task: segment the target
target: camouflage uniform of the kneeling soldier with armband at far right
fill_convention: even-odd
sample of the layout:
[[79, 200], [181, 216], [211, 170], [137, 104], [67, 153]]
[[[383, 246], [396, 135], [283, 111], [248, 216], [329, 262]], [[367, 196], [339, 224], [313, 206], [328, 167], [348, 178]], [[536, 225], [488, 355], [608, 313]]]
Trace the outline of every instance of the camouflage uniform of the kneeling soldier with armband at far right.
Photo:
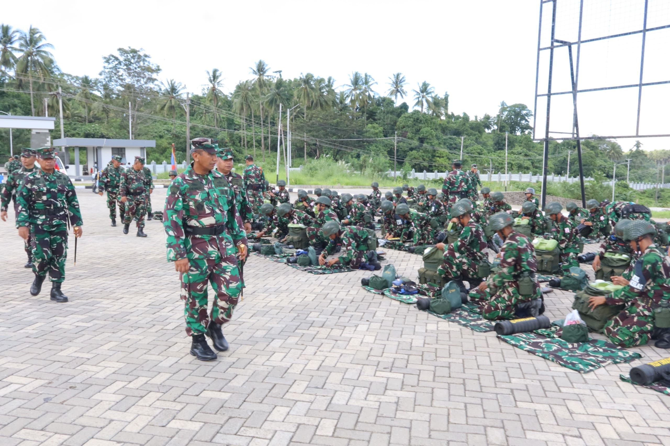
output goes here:
[[626, 305], [608, 321], [605, 335], [621, 347], [643, 346], [654, 329], [653, 309], [670, 296], [670, 262], [655, 244], [647, 247], [634, 265], [630, 284], [605, 299], [607, 305]]

